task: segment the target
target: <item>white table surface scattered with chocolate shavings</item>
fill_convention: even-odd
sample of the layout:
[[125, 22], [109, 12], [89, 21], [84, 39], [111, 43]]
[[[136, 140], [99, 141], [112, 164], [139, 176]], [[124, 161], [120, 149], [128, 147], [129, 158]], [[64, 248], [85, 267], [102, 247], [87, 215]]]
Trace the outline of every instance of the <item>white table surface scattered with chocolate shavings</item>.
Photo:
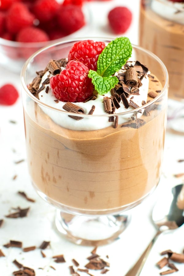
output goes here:
[[[93, 18], [90, 36], [115, 37], [106, 26], [106, 16], [108, 11], [117, 5], [125, 5], [132, 10], [132, 25], [124, 35], [128, 36], [133, 44], [137, 44], [138, 0], [90, 2], [89, 6]], [[89, 32], [82, 36], [88, 35]], [[11, 73], [9, 70], [0, 67], [0, 86], [7, 82], [13, 83], [21, 93], [19, 74]], [[183, 142], [184, 136], [172, 133], [167, 128], [163, 177], [158, 188], [142, 204], [130, 211], [131, 222], [120, 239], [98, 248], [97, 253], [102, 258], [105, 259], [105, 256], [109, 255], [110, 270], [107, 275], [125, 275], [156, 233], [151, 223], [151, 209], [160, 192], [164, 194], [165, 189], [169, 189], [183, 181], [182, 177], [174, 177], [174, 174], [184, 172], [184, 162], [178, 162], [179, 159], [184, 159]], [[21, 159], [24, 161], [16, 164]], [[13, 180], [15, 175], [17, 178]], [[17, 194], [18, 191], [24, 191], [36, 202], [26, 201]], [[17, 219], [6, 218], [5, 215], [12, 211], [11, 208], [17, 206], [21, 208], [30, 207], [28, 216]], [[68, 266], [72, 265], [72, 258], [75, 258], [80, 263], [80, 267], [83, 268], [87, 263], [86, 257], [90, 255], [92, 247], [75, 245], [59, 236], [53, 226], [54, 215], [54, 207], [44, 202], [31, 185], [26, 164], [24, 121], [21, 97], [19, 97], [13, 106], [0, 106], [0, 219], [4, 220], [0, 228], [0, 249], [6, 255], [6, 257], [0, 258], [0, 275], [9, 276], [12, 275], [13, 271], [18, 270], [12, 263], [14, 259], [23, 263], [24, 266], [35, 269], [38, 276], [70, 275]], [[180, 228], [174, 234], [162, 234], [155, 243], [141, 275], [159, 275], [160, 270], [155, 267], [155, 263], [161, 259], [159, 252], [170, 248], [181, 253], [184, 249], [183, 234], [184, 228]], [[22, 241], [23, 247], [34, 245], [39, 247], [43, 240], [49, 240], [51, 241], [51, 247], [44, 251], [47, 257], [42, 258], [39, 249], [23, 252], [20, 248], [3, 247], [3, 244], [10, 240]], [[66, 263], [57, 264], [53, 261], [51, 257], [59, 254], [64, 255]], [[50, 265], [54, 266], [56, 270], [50, 268]], [[39, 267], [44, 268], [44, 270], [38, 269]], [[184, 264], [180, 264], [178, 268], [179, 271], [176, 275], [184, 275]], [[99, 271], [91, 271], [91, 273], [94, 276], [102, 275]], [[81, 275], [86, 274], [81, 273]]]

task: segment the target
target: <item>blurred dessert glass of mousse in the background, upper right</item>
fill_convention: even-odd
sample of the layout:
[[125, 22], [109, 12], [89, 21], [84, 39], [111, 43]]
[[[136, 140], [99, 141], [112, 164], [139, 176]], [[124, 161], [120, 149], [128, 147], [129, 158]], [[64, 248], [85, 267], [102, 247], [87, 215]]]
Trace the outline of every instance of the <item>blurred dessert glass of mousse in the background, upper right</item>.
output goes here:
[[166, 65], [168, 126], [184, 133], [184, 1], [141, 0], [139, 45]]

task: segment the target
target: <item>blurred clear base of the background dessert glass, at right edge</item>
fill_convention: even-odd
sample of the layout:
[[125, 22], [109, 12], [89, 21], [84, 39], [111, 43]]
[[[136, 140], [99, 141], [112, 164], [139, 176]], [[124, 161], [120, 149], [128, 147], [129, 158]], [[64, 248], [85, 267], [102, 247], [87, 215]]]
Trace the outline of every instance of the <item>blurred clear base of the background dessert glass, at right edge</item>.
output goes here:
[[184, 134], [184, 101], [168, 100], [167, 125], [172, 130]]

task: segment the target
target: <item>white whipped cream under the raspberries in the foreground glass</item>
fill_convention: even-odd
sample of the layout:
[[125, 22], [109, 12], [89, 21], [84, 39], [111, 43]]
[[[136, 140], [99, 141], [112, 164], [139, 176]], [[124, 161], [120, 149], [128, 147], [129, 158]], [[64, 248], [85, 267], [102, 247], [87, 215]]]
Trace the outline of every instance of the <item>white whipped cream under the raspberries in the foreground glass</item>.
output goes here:
[[[61, 67], [61, 69], [63, 70], [64, 67]], [[51, 76], [52, 76], [52, 74], [47, 71], [44, 74], [44, 76], [42, 77], [40, 86], [44, 82], [45, 79], [47, 79], [48, 77], [50, 78]], [[143, 101], [147, 102], [148, 86], [149, 86], [148, 75], [145, 75], [145, 77], [142, 79], [141, 82], [142, 82], [142, 86], [139, 87], [139, 95], [132, 94], [133, 102], [136, 103], [140, 107], [142, 106]], [[47, 86], [49, 87], [49, 89], [46, 93], [45, 90], [46, 90]], [[75, 102], [74, 103], [75, 105], [84, 109], [84, 114], [88, 114], [90, 109], [92, 108], [92, 106], [95, 105], [93, 115], [83, 117], [82, 120], [77, 121], [68, 116], [68, 113], [63, 109], [63, 105], [65, 105], [66, 102], [57, 100], [57, 98], [52, 94], [52, 90], [51, 90], [49, 84], [45, 85], [44, 90], [40, 91], [38, 94], [38, 97], [42, 103], [49, 105], [53, 108], [64, 111], [61, 113], [59, 111], [57, 112], [56, 110], [45, 108], [44, 106], [40, 105], [40, 108], [44, 111], [44, 113], [46, 113], [56, 124], [58, 124], [64, 128], [73, 129], [73, 130], [96, 130], [96, 129], [106, 128], [108, 126], [113, 125], [112, 122], [109, 122], [110, 116], [119, 115], [119, 113], [131, 111], [131, 110], [132, 110], [132, 113], [118, 116], [118, 124], [123, 124], [127, 121], [132, 120], [131, 117], [134, 116], [134, 111], [133, 111], [134, 109], [131, 106], [129, 106], [128, 109], [126, 109], [122, 100], [119, 103], [120, 107], [118, 109], [115, 109], [114, 114], [107, 114], [105, 112], [104, 97], [110, 97], [110, 96], [111, 96], [111, 92], [109, 91], [105, 95], [97, 94], [97, 98], [95, 100], [89, 100], [87, 102]], [[127, 98], [128, 102], [130, 102], [131, 97]], [[142, 115], [142, 113], [138, 113], [137, 117], [140, 117]], [[94, 116], [94, 115], [96, 115], [96, 116]], [[98, 115], [105, 115], [105, 116], [98, 116]]]

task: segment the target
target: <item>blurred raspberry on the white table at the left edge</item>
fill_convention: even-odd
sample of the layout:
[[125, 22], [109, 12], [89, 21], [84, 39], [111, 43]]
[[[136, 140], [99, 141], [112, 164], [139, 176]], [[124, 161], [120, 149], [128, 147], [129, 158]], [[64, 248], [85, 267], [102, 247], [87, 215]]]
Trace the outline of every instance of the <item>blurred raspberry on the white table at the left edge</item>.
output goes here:
[[19, 97], [17, 89], [10, 83], [0, 87], [0, 104], [13, 105]]

